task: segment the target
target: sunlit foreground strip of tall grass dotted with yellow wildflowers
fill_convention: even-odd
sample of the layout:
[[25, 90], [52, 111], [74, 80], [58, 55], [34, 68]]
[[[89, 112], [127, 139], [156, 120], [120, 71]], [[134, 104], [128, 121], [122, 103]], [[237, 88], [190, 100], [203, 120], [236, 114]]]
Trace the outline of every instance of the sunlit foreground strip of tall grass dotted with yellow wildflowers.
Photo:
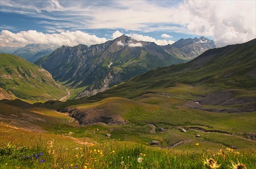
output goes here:
[[[200, 144], [195, 146], [200, 147]], [[39, 140], [23, 147], [8, 143], [0, 148], [0, 153], [1, 168], [208, 168], [209, 159], [219, 168], [237, 164], [247, 168], [256, 166], [254, 150], [220, 148], [213, 152], [202, 149], [189, 153], [112, 142], [75, 148], [56, 146], [54, 140]]]

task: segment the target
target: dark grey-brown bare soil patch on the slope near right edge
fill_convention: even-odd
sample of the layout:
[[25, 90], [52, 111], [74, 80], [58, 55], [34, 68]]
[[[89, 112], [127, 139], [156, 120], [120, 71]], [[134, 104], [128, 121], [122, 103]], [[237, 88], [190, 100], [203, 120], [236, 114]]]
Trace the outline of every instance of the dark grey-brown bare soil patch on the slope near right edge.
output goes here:
[[[245, 112], [256, 111], [256, 97], [234, 97], [236, 90], [214, 92], [205, 97], [188, 101], [185, 106], [212, 112]], [[201, 105], [239, 105], [237, 108], [205, 108]]]

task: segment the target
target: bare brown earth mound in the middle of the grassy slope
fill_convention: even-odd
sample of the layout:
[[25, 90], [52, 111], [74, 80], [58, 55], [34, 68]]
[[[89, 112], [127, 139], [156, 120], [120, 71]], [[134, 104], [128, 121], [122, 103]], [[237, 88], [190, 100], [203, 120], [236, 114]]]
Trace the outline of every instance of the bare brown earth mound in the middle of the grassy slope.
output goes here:
[[111, 106], [105, 106], [102, 108], [89, 107], [84, 109], [67, 108], [62, 110], [62, 112], [68, 112], [72, 118], [78, 121], [79, 125], [93, 123], [105, 123], [108, 125], [126, 124], [120, 115], [113, 113]]

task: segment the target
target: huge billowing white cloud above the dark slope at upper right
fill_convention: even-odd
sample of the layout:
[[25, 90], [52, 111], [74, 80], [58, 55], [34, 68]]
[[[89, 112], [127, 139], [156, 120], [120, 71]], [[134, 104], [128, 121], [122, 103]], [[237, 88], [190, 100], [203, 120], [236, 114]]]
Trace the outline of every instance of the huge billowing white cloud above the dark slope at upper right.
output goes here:
[[243, 43], [255, 38], [255, 6], [255, 1], [184, 1], [173, 21], [191, 34], [211, 36], [219, 47]]

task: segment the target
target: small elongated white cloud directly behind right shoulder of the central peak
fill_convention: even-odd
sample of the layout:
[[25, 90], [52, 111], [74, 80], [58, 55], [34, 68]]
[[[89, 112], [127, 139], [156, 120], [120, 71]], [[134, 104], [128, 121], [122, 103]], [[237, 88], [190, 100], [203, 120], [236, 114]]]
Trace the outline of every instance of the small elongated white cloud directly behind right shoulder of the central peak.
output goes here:
[[152, 38], [150, 36], [143, 36], [143, 35], [139, 35], [139, 34], [129, 34], [127, 36], [130, 36], [133, 39], [136, 39], [138, 41], [146, 41], [146, 42], [155, 42], [158, 45], [167, 45], [167, 44], [173, 44], [174, 41], [169, 40], [156, 40], [155, 38]]

